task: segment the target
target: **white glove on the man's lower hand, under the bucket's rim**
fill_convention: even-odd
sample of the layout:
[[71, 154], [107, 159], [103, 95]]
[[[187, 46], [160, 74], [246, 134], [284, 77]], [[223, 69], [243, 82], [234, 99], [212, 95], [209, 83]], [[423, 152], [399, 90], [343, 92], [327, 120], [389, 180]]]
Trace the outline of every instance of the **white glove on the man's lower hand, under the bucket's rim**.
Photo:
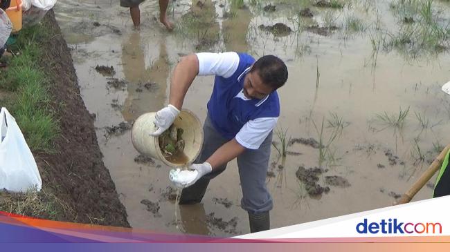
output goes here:
[[170, 170], [169, 179], [178, 188], [186, 188], [211, 171], [213, 171], [213, 167], [208, 162], [192, 164], [188, 170], [181, 171], [179, 168]]

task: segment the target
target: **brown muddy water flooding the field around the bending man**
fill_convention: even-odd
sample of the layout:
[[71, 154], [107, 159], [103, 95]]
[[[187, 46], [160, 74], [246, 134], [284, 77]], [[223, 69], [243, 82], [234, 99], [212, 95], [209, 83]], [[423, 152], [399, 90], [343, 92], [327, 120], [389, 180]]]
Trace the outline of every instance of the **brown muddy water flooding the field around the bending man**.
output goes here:
[[[247, 215], [240, 209], [235, 161], [210, 183], [201, 204], [177, 208], [177, 228], [169, 168], [157, 160], [136, 162], [138, 153], [126, 127], [121, 134], [106, 131], [167, 104], [174, 65], [180, 55], [197, 50], [239, 50], [255, 57], [275, 54], [287, 62], [289, 80], [279, 90], [278, 132], [287, 130], [287, 139], [298, 141], [287, 147], [287, 157], [280, 158], [276, 148], [271, 153], [267, 186], [275, 203], [272, 228], [390, 206], [438, 155], [435, 146], [450, 144], [450, 97], [440, 91], [449, 81], [450, 55], [411, 57], [401, 50], [372, 47], [371, 38], [395, 35], [402, 23], [390, 2], [345, 1], [342, 10], [331, 10], [296, 1], [275, 3], [275, 12], [265, 12], [269, 2], [246, 2], [247, 8], [239, 8], [227, 1], [177, 0], [169, 11], [177, 29], [167, 32], [156, 19], [157, 1], [146, 1], [141, 5], [143, 26], [136, 32], [128, 10], [117, 1], [58, 1], [57, 20], [73, 49], [82, 96], [96, 114], [98, 143], [129, 223], [169, 233], [249, 232]], [[193, 16], [187, 14], [191, 7]], [[299, 8], [305, 7], [314, 17], [298, 17]], [[449, 22], [448, 3], [435, 1], [433, 8], [441, 23]], [[359, 17], [366, 28], [348, 32], [348, 17]], [[275, 23], [285, 23], [291, 32], [274, 34], [258, 28]], [[314, 25], [339, 29], [323, 36], [307, 28]], [[101, 75], [96, 66], [113, 66], [115, 73]], [[212, 82], [212, 77], [195, 79], [183, 105], [201, 120], [206, 117]], [[406, 110], [403, 127], [386, 126], [379, 119], [398, 117]], [[331, 126], [336, 124], [341, 129], [333, 133], [339, 129]], [[302, 144], [300, 138], [322, 144]], [[273, 139], [280, 146], [276, 135]], [[324, 171], [316, 184], [329, 191], [313, 197], [296, 171], [299, 166], [319, 165]], [[414, 200], [431, 197], [433, 180]]]

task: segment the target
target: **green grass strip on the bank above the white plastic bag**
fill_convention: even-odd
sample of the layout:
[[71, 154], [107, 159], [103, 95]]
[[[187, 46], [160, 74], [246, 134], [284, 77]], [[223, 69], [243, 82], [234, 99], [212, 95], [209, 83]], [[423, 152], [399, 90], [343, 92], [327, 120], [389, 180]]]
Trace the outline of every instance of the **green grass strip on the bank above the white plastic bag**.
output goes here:
[[8, 101], [8, 109], [30, 149], [51, 153], [59, 125], [49, 106], [51, 95], [46, 72], [39, 67], [42, 56], [39, 43], [45, 43], [46, 39], [42, 26], [21, 30], [16, 44], [11, 46], [15, 56], [10, 59], [6, 73], [0, 77], [0, 88], [14, 93], [15, 98]]

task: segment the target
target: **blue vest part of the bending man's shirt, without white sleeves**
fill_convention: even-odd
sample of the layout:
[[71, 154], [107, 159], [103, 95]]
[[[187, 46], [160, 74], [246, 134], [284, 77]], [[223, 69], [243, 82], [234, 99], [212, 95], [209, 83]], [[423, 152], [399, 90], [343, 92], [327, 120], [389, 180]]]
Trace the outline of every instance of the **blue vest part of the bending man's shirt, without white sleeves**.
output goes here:
[[[250, 120], [260, 117], [278, 117], [280, 115], [280, 102], [278, 94], [273, 91], [267, 99], [260, 104], [260, 99], [244, 101], [235, 97], [244, 87], [246, 73], [255, 59], [250, 55], [238, 53], [240, 61], [237, 70], [229, 78], [215, 77], [213, 93], [208, 101], [208, 115], [215, 129], [226, 139], [233, 139], [239, 130]], [[237, 78], [242, 77], [238, 81]]]

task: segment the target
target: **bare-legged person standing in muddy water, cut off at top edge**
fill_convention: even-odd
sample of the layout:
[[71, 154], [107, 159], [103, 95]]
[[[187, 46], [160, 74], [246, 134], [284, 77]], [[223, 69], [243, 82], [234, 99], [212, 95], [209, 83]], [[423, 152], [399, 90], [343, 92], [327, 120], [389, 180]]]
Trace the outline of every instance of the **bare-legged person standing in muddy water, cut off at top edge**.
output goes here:
[[[139, 5], [145, 0], [120, 0], [120, 6], [129, 8], [129, 14], [132, 16], [134, 27], [139, 29], [141, 26], [141, 10]], [[169, 0], [159, 0], [159, 21], [165, 28], [173, 30], [173, 25], [167, 18], [165, 12], [169, 6]]]

